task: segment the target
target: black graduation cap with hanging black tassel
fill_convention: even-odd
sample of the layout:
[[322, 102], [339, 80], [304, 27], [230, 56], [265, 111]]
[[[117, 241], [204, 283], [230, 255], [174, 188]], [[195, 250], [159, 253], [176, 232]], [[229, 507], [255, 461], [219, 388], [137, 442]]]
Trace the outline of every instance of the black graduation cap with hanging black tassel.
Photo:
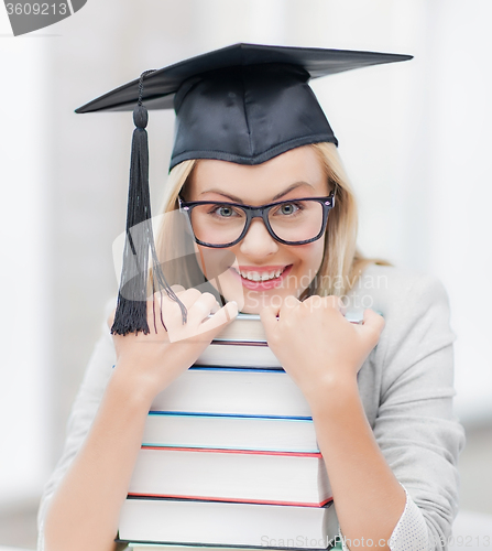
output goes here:
[[[153, 262], [153, 290], [165, 290], [178, 302], [186, 322], [186, 309], [167, 285], [158, 264], [150, 224], [147, 109], [176, 111], [170, 170], [190, 159], [260, 164], [300, 145], [338, 144], [309, 79], [411, 58], [379, 52], [234, 44], [144, 72], [140, 78], [76, 109], [78, 114], [133, 110], [136, 127], [130, 166], [128, 239], [111, 333], [149, 333], [149, 255]], [[143, 228], [136, 237], [131, 233], [135, 225]]]

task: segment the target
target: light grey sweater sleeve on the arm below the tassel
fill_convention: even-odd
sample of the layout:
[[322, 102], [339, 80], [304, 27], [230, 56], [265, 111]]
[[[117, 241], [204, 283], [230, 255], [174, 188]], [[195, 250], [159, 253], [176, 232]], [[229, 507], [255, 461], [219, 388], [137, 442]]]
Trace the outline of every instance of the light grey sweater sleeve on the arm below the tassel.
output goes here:
[[43, 489], [37, 511], [37, 551], [44, 550], [44, 520], [51, 499], [89, 432], [106, 386], [111, 377], [114, 363], [114, 347], [109, 329], [105, 323], [103, 334], [96, 344], [81, 386], [72, 407], [62, 456]]

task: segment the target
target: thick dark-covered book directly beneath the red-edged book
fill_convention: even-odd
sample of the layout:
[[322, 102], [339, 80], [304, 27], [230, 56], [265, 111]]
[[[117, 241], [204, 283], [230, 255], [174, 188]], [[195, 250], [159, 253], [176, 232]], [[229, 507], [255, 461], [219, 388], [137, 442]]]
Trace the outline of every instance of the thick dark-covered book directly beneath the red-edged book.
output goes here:
[[[120, 541], [185, 545], [326, 549], [338, 534], [331, 504], [285, 507], [198, 500], [125, 499]], [[176, 551], [177, 551], [176, 545]]]

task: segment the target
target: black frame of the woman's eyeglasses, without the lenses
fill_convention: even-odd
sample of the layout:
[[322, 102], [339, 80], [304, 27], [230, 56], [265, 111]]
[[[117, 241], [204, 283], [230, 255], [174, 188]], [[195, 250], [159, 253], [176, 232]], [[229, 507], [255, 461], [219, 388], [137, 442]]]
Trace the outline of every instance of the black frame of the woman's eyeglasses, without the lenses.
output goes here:
[[[275, 231], [273, 231], [272, 226], [270, 225], [269, 220], [269, 213], [270, 210], [278, 205], [282, 204], [289, 204], [289, 203], [296, 203], [297, 201], [315, 201], [317, 203], [320, 203], [322, 206], [322, 224], [321, 224], [321, 229], [319, 230], [319, 234], [316, 237], [313, 237], [310, 239], [306, 239], [304, 241], [285, 241], [284, 239], [281, 239]], [[238, 239], [228, 242], [228, 244], [221, 244], [221, 245], [212, 245], [209, 242], [201, 241], [198, 239], [195, 235], [195, 231], [193, 231], [195, 241], [198, 245], [201, 245], [204, 247], [210, 247], [212, 249], [225, 249], [227, 247], [232, 247], [233, 245], [237, 245], [239, 241], [241, 241], [244, 236], [248, 234], [248, 230], [250, 229], [251, 222], [253, 218], [262, 218], [263, 224], [265, 225], [269, 234], [278, 242], [283, 245], [307, 245], [308, 242], [317, 241], [322, 234], [325, 233], [326, 225], [328, 223], [328, 214], [334, 208], [335, 206], [335, 193], [331, 192], [328, 196], [326, 197], [300, 197], [300, 198], [292, 198], [292, 199], [286, 199], [286, 201], [277, 201], [275, 203], [267, 203], [266, 205], [260, 205], [260, 206], [252, 206], [252, 205], [242, 205], [239, 203], [229, 203], [229, 202], [222, 202], [222, 201], [192, 201], [192, 202], [186, 202], [183, 201], [181, 197], [178, 197], [178, 205], [179, 205], [179, 212], [182, 213], [187, 213], [188, 215], [188, 220], [189, 220], [189, 226], [193, 231], [193, 223], [192, 223], [192, 210], [194, 207], [199, 206], [199, 205], [220, 205], [220, 206], [230, 206], [230, 207], [236, 207], [236, 208], [241, 208], [244, 214], [245, 214], [245, 223], [244, 223], [244, 228], [241, 233], [241, 235], [238, 237]]]

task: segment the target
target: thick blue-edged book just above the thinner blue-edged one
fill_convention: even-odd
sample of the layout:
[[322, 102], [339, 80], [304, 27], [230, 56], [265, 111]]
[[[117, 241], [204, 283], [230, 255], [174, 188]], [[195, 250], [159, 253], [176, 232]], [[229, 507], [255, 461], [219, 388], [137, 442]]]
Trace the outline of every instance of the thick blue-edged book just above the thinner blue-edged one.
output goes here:
[[281, 369], [192, 367], [154, 398], [151, 411], [311, 417], [303, 392]]

